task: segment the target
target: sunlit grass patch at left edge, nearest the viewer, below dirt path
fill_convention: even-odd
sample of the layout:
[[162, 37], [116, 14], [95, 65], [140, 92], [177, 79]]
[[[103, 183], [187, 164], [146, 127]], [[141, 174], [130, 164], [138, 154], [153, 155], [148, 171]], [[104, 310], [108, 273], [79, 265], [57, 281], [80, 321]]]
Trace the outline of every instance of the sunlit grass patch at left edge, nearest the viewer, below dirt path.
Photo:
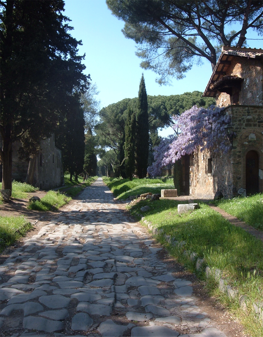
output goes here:
[[33, 226], [23, 216], [0, 216], [0, 252], [24, 236]]

